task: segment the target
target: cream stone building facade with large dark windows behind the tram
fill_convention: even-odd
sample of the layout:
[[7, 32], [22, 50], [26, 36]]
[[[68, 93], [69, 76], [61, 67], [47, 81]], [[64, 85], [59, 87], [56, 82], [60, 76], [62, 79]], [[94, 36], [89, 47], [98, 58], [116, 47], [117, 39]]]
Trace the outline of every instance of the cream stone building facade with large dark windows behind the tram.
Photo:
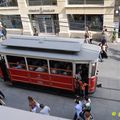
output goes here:
[[[85, 27], [114, 26], [115, 0], [1, 0], [0, 21], [9, 32], [80, 37]], [[81, 35], [80, 35], [81, 34]]]

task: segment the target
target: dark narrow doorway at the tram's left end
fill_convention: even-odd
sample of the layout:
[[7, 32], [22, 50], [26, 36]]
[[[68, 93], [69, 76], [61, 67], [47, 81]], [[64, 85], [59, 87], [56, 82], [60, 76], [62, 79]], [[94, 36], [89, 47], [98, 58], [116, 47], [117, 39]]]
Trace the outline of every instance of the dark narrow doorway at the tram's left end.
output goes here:
[[1, 71], [2, 71], [4, 81], [6, 81], [6, 82], [10, 81], [10, 75], [9, 75], [8, 70], [7, 70], [5, 60], [2, 56], [0, 56], [0, 68], [1, 68]]

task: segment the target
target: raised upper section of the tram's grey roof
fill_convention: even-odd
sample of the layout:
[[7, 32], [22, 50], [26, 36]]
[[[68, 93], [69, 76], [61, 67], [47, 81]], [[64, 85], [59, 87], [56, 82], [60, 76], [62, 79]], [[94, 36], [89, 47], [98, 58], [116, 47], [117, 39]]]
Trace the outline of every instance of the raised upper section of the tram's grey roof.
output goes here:
[[[81, 42], [83, 42], [83, 40], [81, 40]], [[2, 45], [70, 52], [79, 52], [81, 49], [81, 44], [74, 39], [71, 41], [70, 38], [52, 36], [13, 36], [7, 41], [4, 41]]]

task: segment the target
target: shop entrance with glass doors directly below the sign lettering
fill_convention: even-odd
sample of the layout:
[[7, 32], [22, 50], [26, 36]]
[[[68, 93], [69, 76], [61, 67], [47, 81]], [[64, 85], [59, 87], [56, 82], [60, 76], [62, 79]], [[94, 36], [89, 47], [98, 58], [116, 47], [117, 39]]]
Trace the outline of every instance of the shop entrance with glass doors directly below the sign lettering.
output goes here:
[[32, 14], [29, 15], [32, 28], [37, 28], [39, 33], [56, 34], [59, 32], [57, 14]]

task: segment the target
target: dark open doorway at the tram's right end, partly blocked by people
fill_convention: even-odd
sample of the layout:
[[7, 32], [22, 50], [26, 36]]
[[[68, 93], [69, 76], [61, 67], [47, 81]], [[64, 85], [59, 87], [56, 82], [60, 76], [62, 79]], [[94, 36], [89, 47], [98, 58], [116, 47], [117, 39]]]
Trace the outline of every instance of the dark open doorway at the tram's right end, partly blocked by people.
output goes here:
[[[81, 64], [77, 63], [76, 64], [76, 75], [79, 76], [82, 83], [87, 83], [88, 84], [88, 78], [89, 78], [89, 64]], [[88, 95], [88, 86], [85, 87], [85, 94]]]

